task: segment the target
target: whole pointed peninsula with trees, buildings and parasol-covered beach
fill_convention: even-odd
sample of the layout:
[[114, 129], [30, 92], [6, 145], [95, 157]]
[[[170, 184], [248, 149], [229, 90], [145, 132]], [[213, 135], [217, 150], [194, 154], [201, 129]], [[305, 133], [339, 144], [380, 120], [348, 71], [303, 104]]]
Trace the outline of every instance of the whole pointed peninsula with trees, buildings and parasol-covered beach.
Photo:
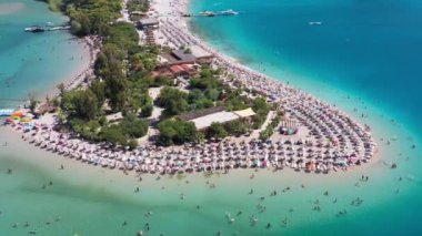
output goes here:
[[31, 101], [6, 120], [29, 143], [152, 174], [284, 167], [328, 174], [375, 155], [368, 125], [192, 34], [185, 0], [93, 2], [57, 6], [71, 32], [88, 40], [93, 61], [60, 84], [58, 96]]

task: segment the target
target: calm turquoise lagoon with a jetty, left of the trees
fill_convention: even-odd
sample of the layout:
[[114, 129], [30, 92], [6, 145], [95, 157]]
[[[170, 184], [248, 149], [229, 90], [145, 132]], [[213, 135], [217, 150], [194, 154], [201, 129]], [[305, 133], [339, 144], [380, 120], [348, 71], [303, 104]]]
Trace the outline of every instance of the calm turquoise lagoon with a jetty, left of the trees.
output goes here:
[[0, 107], [13, 107], [28, 94], [46, 93], [79, 73], [88, 58], [68, 32], [28, 33], [23, 29], [61, 24], [67, 19], [32, 0], [0, 0]]

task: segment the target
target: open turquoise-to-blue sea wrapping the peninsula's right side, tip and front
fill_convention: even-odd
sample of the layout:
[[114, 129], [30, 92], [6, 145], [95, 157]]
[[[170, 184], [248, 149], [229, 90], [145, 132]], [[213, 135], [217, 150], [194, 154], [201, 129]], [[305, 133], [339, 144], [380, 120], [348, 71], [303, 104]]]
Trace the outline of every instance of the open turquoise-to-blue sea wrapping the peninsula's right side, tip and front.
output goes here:
[[[39, 14], [56, 16], [38, 7]], [[193, 0], [190, 6], [191, 12], [225, 9], [241, 13], [193, 18], [192, 30], [245, 65], [370, 124], [380, 157], [332, 175], [260, 170], [253, 179], [247, 171], [139, 182], [134, 174], [79, 165], [22, 145], [0, 129], [0, 235], [32, 229], [38, 235], [135, 235], [141, 229], [144, 235], [422, 235], [422, 2]], [[395, 170], [389, 167], [393, 162]], [[362, 175], [369, 181], [360, 181]], [[137, 186], [140, 193], [133, 193]], [[274, 189], [278, 195], [270, 196]]]

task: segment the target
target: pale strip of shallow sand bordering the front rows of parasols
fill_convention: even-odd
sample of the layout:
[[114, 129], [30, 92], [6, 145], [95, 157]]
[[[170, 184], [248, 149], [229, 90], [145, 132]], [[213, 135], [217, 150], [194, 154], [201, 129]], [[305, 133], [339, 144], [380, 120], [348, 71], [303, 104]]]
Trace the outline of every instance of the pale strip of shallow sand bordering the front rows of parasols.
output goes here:
[[[7, 142], [7, 146], [4, 143]], [[142, 186], [148, 187], [149, 191], [160, 189], [161, 186], [157, 185], [157, 177], [160, 174], [139, 174], [135, 172], [122, 172], [120, 170], [108, 170], [101, 166], [88, 165], [86, 163], [78, 162], [72, 158], [66, 158], [58, 154], [46, 152], [37, 146], [29, 145], [23, 141], [19, 133], [11, 131], [9, 127], [0, 127], [0, 156], [12, 157], [20, 162], [30, 164], [37, 168], [48, 172], [49, 175], [59, 176], [71, 184], [84, 184], [87, 179], [90, 179], [97, 187], [111, 187], [110, 189], [118, 187], [123, 193], [132, 192], [135, 186], [140, 184], [139, 177], [142, 177]], [[61, 165], [64, 170], [60, 170]], [[318, 185], [320, 187], [339, 187], [344, 183], [353, 183], [362, 175], [369, 174], [371, 171], [384, 168], [382, 163], [372, 162], [370, 165], [364, 165], [360, 168], [353, 168], [353, 171], [331, 173], [330, 175], [314, 175], [303, 172], [295, 172], [294, 170], [283, 170], [273, 172], [270, 170], [235, 170], [228, 174], [223, 174], [222, 171], [215, 172], [213, 177], [204, 177], [203, 173], [184, 174], [181, 179], [178, 179], [178, 175], [162, 176], [160, 184], [167, 187], [171, 185], [178, 185], [188, 179], [190, 183], [204, 184], [207, 179], [213, 179], [218, 185], [223, 184], [227, 179], [229, 183], [237, 186], [248, 187], [251, 175], [255, 176], [259, 183], [265, 183], [271, 187], [271, 183], [278, 185], [278, 182], [284, 183], [303, 183], [305, 185]], [[312, 177], [310, 177], [312, 176]], [[339, 177], [342, 178], [339, 182]], [[274, 186], [275, 187], [275, 186]]]

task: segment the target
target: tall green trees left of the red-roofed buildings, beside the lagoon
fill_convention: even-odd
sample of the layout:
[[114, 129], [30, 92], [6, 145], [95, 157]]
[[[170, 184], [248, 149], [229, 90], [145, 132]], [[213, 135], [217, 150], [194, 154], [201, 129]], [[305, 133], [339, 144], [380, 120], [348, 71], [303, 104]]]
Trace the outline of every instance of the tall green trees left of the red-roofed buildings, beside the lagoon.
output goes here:
[[[120, 0], [50, 1], [70, 18], [71, 32], [78, 37], [101, 37], [102, 47], [89, 88], [64, 91], [61, 85], [60, 117], [63, 126], [93, 141], [135, 147], [135, 138], [148, 132], [149, 123], [141, 117], [152, 113], [148, 88], [160, 83], [148, 75], [157, 66], [157, 47], [140, 47], [131, 23], [115, 22]], [[119, 121], [105, 115], [121, 112]], [[61, 115], [60, 115], [61, 116]]]

